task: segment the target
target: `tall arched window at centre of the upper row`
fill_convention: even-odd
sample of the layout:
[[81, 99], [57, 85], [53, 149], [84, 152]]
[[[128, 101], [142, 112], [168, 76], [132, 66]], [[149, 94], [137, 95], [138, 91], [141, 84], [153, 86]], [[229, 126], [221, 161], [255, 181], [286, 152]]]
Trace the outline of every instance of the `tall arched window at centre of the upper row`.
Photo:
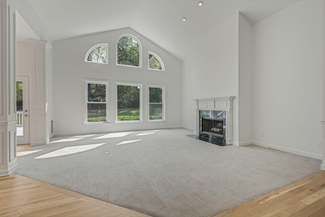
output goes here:
[[124, 35], [117, 42], [117, 65], [141, 68], [141, 45], [139, 41], [130, 35]]

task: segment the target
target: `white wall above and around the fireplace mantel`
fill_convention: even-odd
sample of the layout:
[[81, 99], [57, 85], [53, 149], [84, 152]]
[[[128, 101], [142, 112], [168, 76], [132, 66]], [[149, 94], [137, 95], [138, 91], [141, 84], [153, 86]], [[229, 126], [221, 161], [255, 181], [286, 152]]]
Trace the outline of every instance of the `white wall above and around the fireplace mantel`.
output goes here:
[[183, 61], [183, 126], [193, 129], [192, 99], [236, 96], [233, 141], [238, 143], [238, 14], [194, 41], [194, 55]]

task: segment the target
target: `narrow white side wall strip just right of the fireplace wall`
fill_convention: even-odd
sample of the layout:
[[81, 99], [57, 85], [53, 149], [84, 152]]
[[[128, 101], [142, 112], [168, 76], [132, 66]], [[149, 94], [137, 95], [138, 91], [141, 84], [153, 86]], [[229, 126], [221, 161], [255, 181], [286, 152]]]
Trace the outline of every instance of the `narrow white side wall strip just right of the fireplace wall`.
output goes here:
[[251, 144], [252, 131], [252, 25], [239, 13], [238, 59], [239, 145]]

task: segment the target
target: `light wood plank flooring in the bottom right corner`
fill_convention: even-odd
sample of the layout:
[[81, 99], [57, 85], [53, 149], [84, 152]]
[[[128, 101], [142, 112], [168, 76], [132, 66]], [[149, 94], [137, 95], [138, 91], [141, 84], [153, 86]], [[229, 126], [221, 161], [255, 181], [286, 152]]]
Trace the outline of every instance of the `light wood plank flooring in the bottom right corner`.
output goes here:
[[325, 171], [214, 217], [325, 216]]

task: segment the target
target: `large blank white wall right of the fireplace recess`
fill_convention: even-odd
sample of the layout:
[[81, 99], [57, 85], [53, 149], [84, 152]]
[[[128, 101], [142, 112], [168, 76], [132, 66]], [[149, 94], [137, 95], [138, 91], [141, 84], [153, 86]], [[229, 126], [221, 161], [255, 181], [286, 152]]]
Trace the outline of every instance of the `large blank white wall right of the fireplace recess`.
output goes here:
[[322, 1], [253, 26], [253, 140], [321, 159]]

